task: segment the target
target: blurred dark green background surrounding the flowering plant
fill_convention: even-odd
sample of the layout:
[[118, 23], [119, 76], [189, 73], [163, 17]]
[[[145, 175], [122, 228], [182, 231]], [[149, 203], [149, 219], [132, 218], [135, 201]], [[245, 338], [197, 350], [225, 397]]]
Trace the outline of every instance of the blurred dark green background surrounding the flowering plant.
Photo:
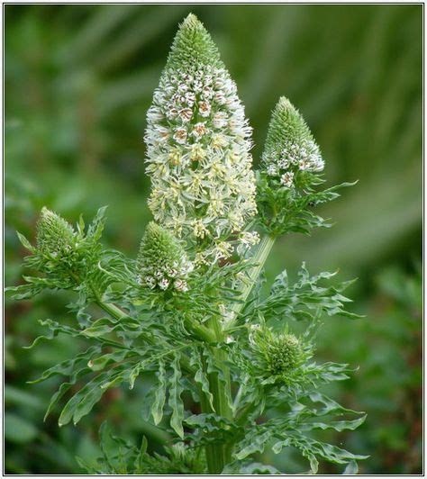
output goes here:
[[[422, 5], [5, 5], [5, 284], [23, 274], [14, 231], [32, 239], [44, 204], [70, 221], [109, 204], [104, 242], [135, 256], [150, 220], [145, 113], [190, 11], [237, 82], [256, 163], [286, 95], [323, 149], [328, 184], [359, 179], [323, 208], [332, 230], [282, 239], [267, 273], [295, 274], [305, 260], [313, 273], [359, 277], [350, 295], [366, 319], [325, 321], [318, 357], [359, 366], [334, 394], [368, 420], [332, 440], [370, 455], [362, 473], [421, 473]], [[105, 418], [141, 438], [138, 391], [105, 394], [77, 428], [43, 423], [57, 380], [25, 382], [82, 345], [22, 347], [41, 334], [38, 320], [69, 321], [68, 299], [6, 300], [8, 473], [81, 473], [75, 456], [97, 454]], [[259, 459], [299, 466], [287, 453]]]

